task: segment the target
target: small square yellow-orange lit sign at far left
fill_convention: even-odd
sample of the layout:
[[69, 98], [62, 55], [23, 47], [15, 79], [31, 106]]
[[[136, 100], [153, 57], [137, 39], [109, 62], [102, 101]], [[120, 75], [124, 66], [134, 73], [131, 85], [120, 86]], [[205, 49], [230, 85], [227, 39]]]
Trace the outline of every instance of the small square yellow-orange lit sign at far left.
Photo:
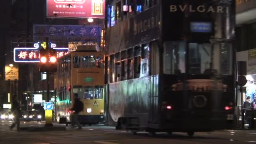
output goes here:
[[19, 80], [19, 68], [6, 65], [5, 80]]

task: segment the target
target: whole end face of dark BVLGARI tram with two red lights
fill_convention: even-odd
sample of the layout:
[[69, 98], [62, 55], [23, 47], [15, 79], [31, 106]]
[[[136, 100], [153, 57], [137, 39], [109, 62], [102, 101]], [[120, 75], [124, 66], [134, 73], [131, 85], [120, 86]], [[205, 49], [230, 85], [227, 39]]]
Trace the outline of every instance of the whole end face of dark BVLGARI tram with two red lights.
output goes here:
[[161, 127], [171, 131], [232, 128], [235, 0], [162, 3]]

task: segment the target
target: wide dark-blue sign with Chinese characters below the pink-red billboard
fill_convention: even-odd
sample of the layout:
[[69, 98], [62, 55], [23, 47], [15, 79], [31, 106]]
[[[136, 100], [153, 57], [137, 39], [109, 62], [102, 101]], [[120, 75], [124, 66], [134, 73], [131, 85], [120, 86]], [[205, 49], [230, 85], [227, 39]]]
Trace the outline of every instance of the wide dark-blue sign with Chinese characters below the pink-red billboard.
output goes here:
[[100, 43], [101, 26], [34, 25], [34, 41]]

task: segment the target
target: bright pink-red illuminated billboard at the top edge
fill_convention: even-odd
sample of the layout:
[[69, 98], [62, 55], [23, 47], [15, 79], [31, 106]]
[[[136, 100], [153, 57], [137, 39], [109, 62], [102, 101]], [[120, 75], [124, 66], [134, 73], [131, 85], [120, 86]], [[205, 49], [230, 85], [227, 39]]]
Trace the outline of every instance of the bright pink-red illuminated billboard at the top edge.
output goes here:
[[105, 0], [47, 0], [47, 17], [104, 19]]

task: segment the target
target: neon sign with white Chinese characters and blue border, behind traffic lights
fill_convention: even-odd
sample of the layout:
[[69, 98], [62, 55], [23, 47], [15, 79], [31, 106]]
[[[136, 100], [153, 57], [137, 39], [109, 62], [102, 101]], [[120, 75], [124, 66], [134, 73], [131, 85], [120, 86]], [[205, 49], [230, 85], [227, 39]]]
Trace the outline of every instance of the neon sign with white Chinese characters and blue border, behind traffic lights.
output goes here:
[[[45, 43], [34, 43], [34, 48], [14, 48], [13, 50], [13, 60], [15, 62], [22, 63], [36, 63], [39, 60], [39, 49], [40, 46], [45, 48]], [[57, 52], [57, 58], [62, 57], [69, 53], [69, 48], [56, 48], [55, 43], [50, 43], [51, 48], [55, 49]]]

